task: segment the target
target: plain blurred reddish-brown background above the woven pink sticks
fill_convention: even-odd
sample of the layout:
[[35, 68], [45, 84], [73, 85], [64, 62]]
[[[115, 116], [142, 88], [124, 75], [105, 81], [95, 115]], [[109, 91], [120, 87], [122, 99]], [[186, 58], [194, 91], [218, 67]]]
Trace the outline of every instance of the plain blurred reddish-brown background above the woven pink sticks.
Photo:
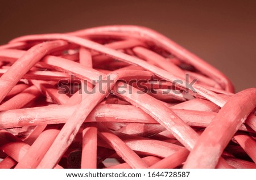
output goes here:
[[237, 91], [256, 87], [256, 1], [0, 0], [0, 44], [108, 24], [155, 29], [224, 72]]

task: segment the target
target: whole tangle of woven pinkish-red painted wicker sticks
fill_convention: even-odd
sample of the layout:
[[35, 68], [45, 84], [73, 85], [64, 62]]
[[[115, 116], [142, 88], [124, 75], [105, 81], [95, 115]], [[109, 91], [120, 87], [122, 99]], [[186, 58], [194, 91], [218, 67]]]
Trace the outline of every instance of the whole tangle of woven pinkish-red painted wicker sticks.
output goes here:
[[18, 37], [0, 65], [0, 168], [256, 168], [255, 88], [151, 29]]

